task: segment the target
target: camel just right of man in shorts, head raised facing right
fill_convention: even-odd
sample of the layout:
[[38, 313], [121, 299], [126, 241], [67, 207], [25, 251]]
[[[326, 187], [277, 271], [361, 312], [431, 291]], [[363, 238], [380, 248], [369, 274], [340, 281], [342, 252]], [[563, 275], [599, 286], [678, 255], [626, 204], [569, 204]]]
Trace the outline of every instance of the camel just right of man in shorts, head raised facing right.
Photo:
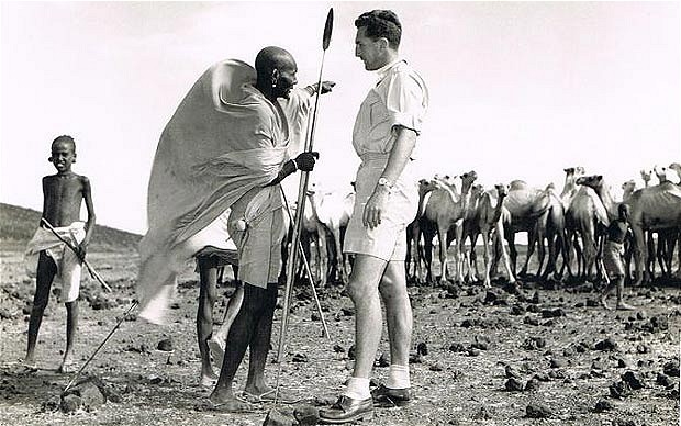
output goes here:
[[[475, 171], [470, 171], [461, 175], [461, 193], [457, 194], [454, 184], [443, 181], [440, 179], [434, 179], [437, 188], [432, 191], [431, 199], [426, 204], [424, 217], [435, 222], [437, 224], [437, 232], [439, 238], [439, 261], [442, 265], [442, 281], [448, 280], [448, 256], [447, 248], [449, 243], [456, 239], [460, 240], [462, 237], [462, 222], [466, 214], [466, 209], [470, 200], [470, 188], [476, 181], [478, 176]], [[450, 232], [450, 228], [454, 233]], [[426, 239], [433, 238], [433, 235], [424, 234]], [[458, 251], [458, 245], [455, 245], [454, 261], [455, 271], [454, 278], [462, 282], [464, 277], [461, 272], [460, 253]], [[427, 253], [426, 253], [427, 256]]]

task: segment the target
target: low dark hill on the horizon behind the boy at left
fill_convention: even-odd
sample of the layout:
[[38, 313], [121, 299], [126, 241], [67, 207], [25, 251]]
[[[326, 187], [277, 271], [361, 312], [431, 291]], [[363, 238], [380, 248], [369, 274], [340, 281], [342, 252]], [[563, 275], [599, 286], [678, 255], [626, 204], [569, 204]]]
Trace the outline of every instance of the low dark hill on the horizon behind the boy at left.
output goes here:
[[[3, 249], [21, 249], [33, 237], [41, 221], [41, 212], [18, 205], [0, 203], [0, 247]], [[90, 242], [92, 251], [127, 251], [136, 250], [141, 235], [115, 229], [109, 226], [94, 225], [94, 234]]]

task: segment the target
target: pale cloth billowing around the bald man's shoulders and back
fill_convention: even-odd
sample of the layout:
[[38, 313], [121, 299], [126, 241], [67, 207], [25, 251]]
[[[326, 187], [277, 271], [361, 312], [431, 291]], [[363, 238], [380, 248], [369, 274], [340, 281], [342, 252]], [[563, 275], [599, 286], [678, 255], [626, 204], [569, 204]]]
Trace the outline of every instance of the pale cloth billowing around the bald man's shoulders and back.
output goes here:
[[308, 91], [292, 91], [276, 105], [255, 81], [255, 69], [241, 60], [213, 65], [160, 136], [137, 280], [139, 316], [152, 323], [164, 322], [177, 274], [203, 248], [192, 237], [254, 188], [272, 181], [289, 159], [290, 141], [297, 143], [305, 128]]

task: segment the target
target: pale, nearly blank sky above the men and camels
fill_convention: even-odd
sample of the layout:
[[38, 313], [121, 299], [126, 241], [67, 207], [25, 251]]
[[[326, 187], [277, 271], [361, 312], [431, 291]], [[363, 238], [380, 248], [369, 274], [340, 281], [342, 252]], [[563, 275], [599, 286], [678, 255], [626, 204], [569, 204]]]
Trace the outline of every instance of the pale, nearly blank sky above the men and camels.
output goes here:
[[144, 233], [158, 138], [198, 77], [277, 45], [315, 82], [331, 7], [323, 77], [337, 86], [312, 172], [326, 190], [347, 192], [358, 165], [351, 128], [377, 77], [354, 56], [354, 20], [372, 9], [398, 13], [400, 54], [429, 89], [424, 178], [560, 190], [582, 166], [618, 193], [681, 161], [679, 2], [1, 2], [0, 201], [41, 210], [51, 142], [70, 134], [98, 223]]

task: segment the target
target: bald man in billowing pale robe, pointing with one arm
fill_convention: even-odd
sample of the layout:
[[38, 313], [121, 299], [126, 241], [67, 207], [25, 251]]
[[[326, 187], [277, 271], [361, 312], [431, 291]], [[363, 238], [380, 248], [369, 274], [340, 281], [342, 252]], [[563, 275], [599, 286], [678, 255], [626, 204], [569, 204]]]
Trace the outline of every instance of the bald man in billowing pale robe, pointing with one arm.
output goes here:
[[[165, 321], [177, 274], [203, 247], [231, 238], [238, 250], [244, 300], [211, 395], [227, 411], [239, 410], [232, 381], [249, 346], [245, 391], [271, 391], [264, 370], [288, 229], [279, 183], [295, 170], [312, 170], [319, 157], [289, 159], [317, 89], [292, 90], [297, 71], [291, 54], [279, 47], [260, 51], [255, 69], [239, 60], [212, 66], [164, 130], [149, 180], [149, 229], [139, 245], [137, 280], [142, 318]], [[322, 93], [333, 86], [325, 81]]]

